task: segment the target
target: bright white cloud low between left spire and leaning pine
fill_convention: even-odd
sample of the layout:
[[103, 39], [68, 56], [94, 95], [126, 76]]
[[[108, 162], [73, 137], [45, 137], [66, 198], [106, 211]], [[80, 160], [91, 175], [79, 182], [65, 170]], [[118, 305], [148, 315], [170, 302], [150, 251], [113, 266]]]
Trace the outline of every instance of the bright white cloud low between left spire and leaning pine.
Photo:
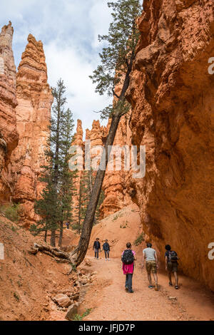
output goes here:
[[68, 93], [68, 106], [75, 119], [83, 121], [83, 128], [91, 128], [93, 119], [98, 114], [93, 110], [100, 110], [107, 105], [107, 98], [94, 93], [94, 87], [88, 76], [93, 72], [93, 64], [84, 61], [75, 49], [61, 48], [56, 43], [45, 46], [46, 62], [49, 64], [49, 83], [56, 85], [58, 78], [62, 78]]

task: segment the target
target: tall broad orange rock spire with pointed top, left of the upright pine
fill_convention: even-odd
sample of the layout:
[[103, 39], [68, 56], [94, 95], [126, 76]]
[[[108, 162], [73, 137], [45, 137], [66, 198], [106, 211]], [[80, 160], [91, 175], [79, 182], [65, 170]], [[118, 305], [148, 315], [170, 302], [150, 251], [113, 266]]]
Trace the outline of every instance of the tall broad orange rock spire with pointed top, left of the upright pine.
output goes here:
[[14, 172], [13, 200], [22, 205], [22, 222], [36, 220], [34, 201], [44, 185], [39, 181], [45, 163], [53, 96], [47, 83], [43, 44], [31, 34], [17, 73], [16, 123], [19, 145], [12, 154]]

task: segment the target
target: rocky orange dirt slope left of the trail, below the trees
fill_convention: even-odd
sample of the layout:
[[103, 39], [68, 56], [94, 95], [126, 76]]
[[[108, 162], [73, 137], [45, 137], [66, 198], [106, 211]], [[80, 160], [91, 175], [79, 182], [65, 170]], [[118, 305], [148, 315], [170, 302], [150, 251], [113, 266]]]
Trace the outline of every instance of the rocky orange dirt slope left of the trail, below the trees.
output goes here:
[[0, 259], [0, 321], [72, 319], [83, 302], [85, 285], [96, 277], [90, 271], [91, 262], [86, 259], [77, 272], [69, 274], [69, 264], [41, 252], [31, 254], [34, 243], [43, 242], [42, 237], [32, 237], [1, 212], [0, 241], [4, 242], [4, 259]]

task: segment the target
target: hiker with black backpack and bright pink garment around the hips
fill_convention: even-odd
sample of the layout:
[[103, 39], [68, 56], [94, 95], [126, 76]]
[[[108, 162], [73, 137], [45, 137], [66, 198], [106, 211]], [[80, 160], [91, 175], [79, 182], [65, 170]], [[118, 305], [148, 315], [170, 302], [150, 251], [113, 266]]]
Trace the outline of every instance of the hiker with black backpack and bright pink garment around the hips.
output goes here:
[[134, 269], [134, 261], [137, 260], [136, 252], [131, 249], [131, 243], [126, 243], [127, 249], [123, 251], [121, 261], [123, 262], [123, 274], [126, 274], [125, 289], [128, 293], [133, 293], [132, 277]]

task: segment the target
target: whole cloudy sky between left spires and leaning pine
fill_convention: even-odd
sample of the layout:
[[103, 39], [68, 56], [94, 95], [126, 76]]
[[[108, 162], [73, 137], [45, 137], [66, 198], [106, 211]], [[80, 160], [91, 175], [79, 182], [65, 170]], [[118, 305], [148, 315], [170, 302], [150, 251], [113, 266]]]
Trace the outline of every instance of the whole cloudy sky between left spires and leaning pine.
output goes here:
[[83, 128], [91, 128], [93, 119], [99, 118], [93, 111], [111, 103], [94, 93], [88, 78], [99, 62], [98, 34], [108, 33], [111, 21], [107, 0], [1, 0], [0, 25], [9, 20], [14, 26], [16, 66], [32, 33], [44, 43], [49, 84], [55, 86], [63, 78], [75, 120], [80, 118]]

